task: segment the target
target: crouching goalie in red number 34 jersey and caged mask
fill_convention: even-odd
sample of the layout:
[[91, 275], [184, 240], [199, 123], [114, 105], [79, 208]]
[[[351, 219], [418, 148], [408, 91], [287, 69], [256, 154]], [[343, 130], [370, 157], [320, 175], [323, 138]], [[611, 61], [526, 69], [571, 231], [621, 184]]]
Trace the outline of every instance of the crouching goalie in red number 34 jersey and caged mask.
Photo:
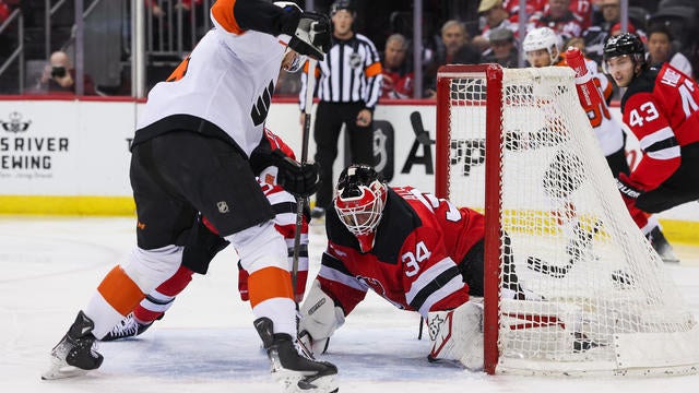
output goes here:
[[[430, 330], [446, 320], [435, 313], [452, 313], [459, 323], [445, 326], [452, 334], [435, 342], [430, 358], [483, 367], [482, 303], [470, 299], [483, 296], [484, 216], [412, 187], [389, 188], [366, 165], [340, 175], [333, 206], [325, 216], [328, 248], [301, 307], [301, 341], [323, 352], [371, 289], [419, 312]], [[502, 274], [512, 283], [503, 291], [523, 298], [511, 261]]]

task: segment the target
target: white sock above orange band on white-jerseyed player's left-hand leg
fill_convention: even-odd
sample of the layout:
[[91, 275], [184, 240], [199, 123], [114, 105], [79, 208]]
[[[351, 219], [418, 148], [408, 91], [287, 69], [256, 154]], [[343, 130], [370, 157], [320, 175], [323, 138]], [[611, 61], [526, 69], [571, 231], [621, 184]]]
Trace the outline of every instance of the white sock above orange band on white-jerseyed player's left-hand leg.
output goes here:
[[121, 269], [141, 291], [150, 294], [177, 272], [182, 262], [182, 249], [175, 245], [153, 250], [137, 248]]

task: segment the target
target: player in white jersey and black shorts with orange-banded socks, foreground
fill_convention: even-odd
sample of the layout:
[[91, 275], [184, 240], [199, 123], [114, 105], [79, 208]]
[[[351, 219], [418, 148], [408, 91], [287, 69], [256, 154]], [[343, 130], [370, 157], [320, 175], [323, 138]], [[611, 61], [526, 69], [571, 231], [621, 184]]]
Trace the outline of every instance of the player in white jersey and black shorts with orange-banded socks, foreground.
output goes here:
[[252, 169], [276, 166], [277, 181], [296, 195], [317, 190], [317, 166], [256, 154], [256, 147], [263, 140], [280, 67], [293, 68], [299, 55], [322, 59], [330, 21], [294, 3], [261, 0], [217, 0], [211, 19], [214, 28], [150, 92], [137, 124], [130, 179], [138, 247], [78, 313], [51, 350], [44, 379], [83, 374], [102, 365], [95, 341], [177, 271], [201, 212], [235, 246], [250, 273], [254, 326], [284, 392], [337, 391], [337, 369], [295, 348], [287, 248]]

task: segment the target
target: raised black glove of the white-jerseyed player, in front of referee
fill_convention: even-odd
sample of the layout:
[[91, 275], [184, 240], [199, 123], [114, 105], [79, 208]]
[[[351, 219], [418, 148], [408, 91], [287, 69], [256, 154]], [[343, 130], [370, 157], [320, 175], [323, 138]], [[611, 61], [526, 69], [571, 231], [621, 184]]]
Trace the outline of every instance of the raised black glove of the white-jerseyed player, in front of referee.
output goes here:
[[328, 15], [315, 12], [304, 12], [291, 34], [288, 47], [299, 55], [309, 56], [322, 61], [330, 50], [330, 19]]

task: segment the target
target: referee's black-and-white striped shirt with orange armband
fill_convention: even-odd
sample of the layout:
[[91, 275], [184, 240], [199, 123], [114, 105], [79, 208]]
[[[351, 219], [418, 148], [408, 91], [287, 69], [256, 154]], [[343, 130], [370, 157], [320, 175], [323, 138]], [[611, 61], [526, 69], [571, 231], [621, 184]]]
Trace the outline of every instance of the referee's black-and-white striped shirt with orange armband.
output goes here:
[[[301, 75], [299, 100], [306, 108], [308, 63]], [[332, 47], [316, 68], [316, 94], [321, 102], [358, 103], [374, 110], [381, 96], [381, 60], [374, 44], [362, 34], [350, 39], [333, 37]]]

